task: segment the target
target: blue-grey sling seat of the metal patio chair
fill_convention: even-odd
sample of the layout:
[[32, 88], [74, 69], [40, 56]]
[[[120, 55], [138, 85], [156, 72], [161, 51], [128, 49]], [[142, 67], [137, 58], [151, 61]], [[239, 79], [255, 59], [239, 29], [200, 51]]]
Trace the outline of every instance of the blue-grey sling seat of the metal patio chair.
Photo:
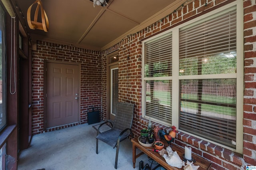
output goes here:
[[[96, 136], [96, 138], [99, 140], [102, 140], [106, 144], [109, 144], [110, 146], [115, 148], [115, 146], [117, 144], [118, 136], [120, 135], [121, 132], [122, 132], [122, 130], [112, 128], [110, 130], [107, 130], [105, 132], [98, 134], [98, 136]], [[122, 135], [120, 141], [126, 139], [129, 136], [129, 134], [130, 134], [129, 131], [125, 132]]]

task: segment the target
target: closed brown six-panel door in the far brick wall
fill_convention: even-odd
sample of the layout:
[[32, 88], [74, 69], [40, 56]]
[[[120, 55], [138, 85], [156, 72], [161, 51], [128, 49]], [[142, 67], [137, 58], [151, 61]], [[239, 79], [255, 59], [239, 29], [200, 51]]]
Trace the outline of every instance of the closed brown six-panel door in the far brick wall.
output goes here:
[[47, 63], [46, 128], [79, 121], [79, 66]]

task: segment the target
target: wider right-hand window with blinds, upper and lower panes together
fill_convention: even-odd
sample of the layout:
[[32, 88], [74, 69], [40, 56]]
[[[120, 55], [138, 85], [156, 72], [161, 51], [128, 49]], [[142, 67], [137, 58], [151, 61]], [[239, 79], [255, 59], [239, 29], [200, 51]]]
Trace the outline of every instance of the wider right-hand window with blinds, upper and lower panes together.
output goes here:
[[179, 128], [236, 148], [236, 8], [180, 28], [179, 75]]

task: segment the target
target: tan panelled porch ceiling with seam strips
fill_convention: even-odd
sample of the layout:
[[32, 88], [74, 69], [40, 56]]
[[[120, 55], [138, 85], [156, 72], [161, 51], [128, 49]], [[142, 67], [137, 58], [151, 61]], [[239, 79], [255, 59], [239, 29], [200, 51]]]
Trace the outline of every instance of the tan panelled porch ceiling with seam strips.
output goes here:
[[[185, 0], [109, 0], [108, 6], [95, 6], [90, 0], [41, 0], [49, 19], [49, 30], [31, 30], [26, 15], [35, 0], [11, 0], [24, 16], [26, 30], [33, 42], [72, 44], [104, 50], [150, 24], [164, 18]], [[31, 10], [34, 18], [36, 4]], [[39, 17], [40, 18], [40, 15]], [[38, 19], [38, 21], [40, 21]]]

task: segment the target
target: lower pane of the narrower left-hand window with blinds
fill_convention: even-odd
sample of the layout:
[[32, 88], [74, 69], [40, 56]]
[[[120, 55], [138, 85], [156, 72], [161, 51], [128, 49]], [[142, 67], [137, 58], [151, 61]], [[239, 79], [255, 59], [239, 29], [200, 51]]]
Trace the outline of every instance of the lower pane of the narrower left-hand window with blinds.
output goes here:
[[170, 80], [146, 81], [146, 116], [172, 123], [172, 83]]

